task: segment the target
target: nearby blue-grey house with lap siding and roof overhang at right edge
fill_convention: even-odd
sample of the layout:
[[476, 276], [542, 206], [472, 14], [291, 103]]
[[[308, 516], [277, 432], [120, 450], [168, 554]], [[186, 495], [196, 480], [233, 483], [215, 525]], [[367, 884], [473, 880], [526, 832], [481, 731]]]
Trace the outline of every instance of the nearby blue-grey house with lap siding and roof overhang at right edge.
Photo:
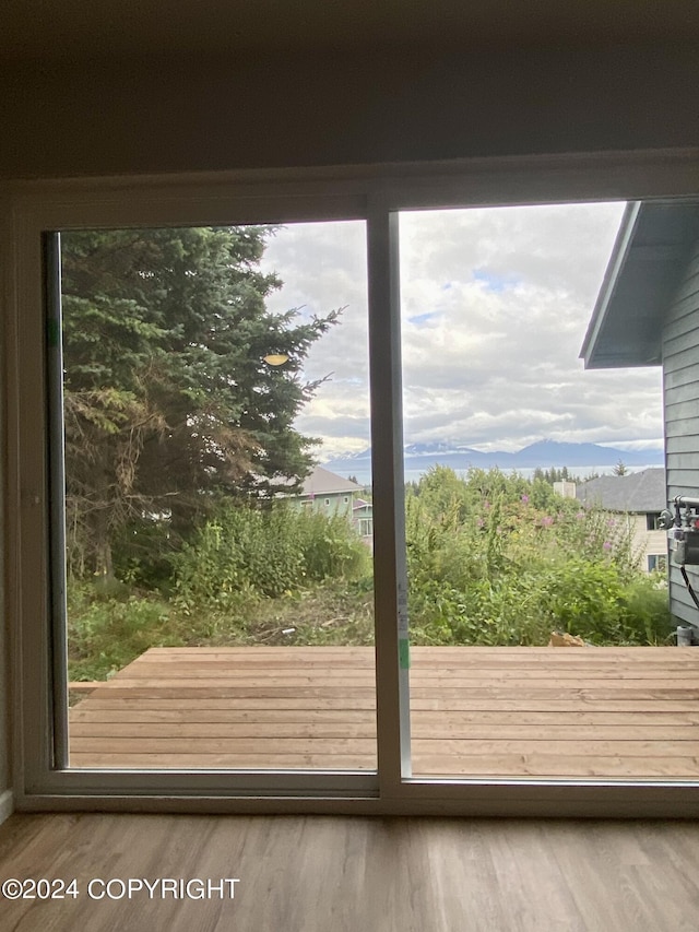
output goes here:
[[[629, 203], [588, 328], [587, 368], [663, 367], [665, 500], [699, 496], [699, 204]], [[699, 589], [699, 567], [687, 567]], [[670, 563], [676, 618], [699, 624]]]

